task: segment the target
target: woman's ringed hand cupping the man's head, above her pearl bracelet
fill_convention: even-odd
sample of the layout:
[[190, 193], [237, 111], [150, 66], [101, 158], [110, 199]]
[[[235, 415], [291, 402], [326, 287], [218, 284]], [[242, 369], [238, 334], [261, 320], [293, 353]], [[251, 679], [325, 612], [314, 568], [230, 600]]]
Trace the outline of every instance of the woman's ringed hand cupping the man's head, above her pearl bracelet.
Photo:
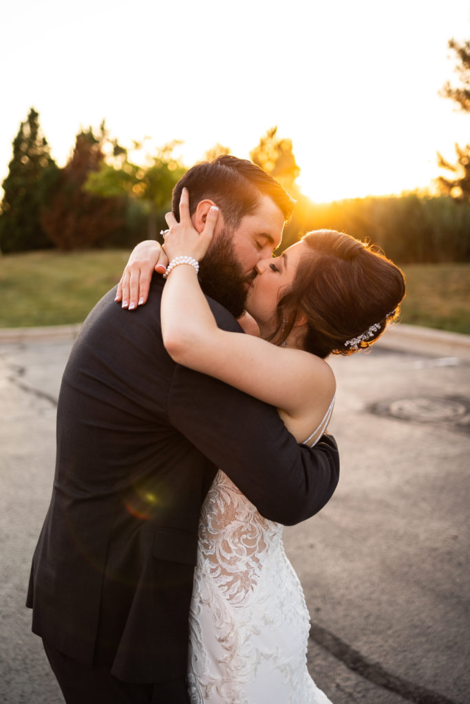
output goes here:
[[218, 208], [211, 206], [207, 211], [206, 222], [202, 232], [197, 232], [192, 225], [190, 215], [190, 196], [187, 189], [183, 188], [180, 199], [180, 222], [177, 222], [173, 213], [166, 213], [165, 220], [170, 228], [165, 233], [165, 250], [168, 261], [175, 257], [192, 257], [197, 261], [202, 260], [209, 249], [218, 218]]

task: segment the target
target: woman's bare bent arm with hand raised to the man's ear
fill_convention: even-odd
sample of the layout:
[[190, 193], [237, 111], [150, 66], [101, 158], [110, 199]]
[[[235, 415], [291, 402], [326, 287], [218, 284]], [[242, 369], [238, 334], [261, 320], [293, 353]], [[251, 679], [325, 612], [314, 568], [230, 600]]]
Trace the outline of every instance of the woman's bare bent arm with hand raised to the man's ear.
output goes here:
[[[184, 192], [180, 215], [180, 223], [173, 215], [168, 219], [171, 229], [164, 245], [168, 258], [200, 258], [210, 242], [216, 212], [209, 211], [199, 237], [192, 228]], [[333, 372], [320, 358], [219, 329], [190, 265], [178, 265], [168, 275], [161, 325], [163, 344], [175, 362], [276, 406], [287, 419], [297, 420], [306, 413], [312, 417], [312, 406], [324, 410], [334, 394]]]

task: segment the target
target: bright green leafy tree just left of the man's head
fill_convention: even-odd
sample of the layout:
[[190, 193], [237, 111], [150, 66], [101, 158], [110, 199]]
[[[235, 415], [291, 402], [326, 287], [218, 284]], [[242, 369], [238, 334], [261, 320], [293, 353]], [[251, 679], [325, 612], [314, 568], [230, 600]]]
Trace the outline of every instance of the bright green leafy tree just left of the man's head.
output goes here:
[[[147, 217], [147, 237], [156, 239], [159, 230], [166, 229], [164, 214], [171, 210], [171, 194], [185, 168], [173, 156], [179, 142], [164, 144], [154, 156], [147, 157], [147, 165], [129, 160], [127, 150], [119, 147], [113, 151], [113, 162], [103, 161], [99, 170], [90, 172], [85, 190], [101, 197], [120, 196], [132, 204], [138, 203]], [[142, 148], [142, 144], [135, 143]]]

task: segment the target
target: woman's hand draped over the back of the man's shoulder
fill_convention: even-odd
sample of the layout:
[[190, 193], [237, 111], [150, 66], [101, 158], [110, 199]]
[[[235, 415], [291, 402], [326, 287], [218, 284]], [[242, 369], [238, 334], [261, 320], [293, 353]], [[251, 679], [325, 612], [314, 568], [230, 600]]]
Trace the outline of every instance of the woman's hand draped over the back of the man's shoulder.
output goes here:
[[128, 310], [143, 306], [147, 303], [154, 271], [164, 274], [167, 266], [166, 253], [158, 242], [154, 239], [140, 242], [130, 253], [114, 300], [122, 301], [122, 307]]

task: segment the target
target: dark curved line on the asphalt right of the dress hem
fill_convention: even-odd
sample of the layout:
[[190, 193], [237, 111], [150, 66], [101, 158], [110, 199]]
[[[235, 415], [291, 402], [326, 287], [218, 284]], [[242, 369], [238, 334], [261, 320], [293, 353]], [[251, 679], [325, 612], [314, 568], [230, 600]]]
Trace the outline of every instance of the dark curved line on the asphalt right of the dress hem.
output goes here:
[[368, 679], [373, 684], [398, 694], [409, 702], [414, 704], [457, 704], [457, 702], [443, 696], [443, 694], [391, 674], [378, 662], [370, 662], [358, 650], [354, 650], [338, 636], [317, 624], [311, 624], [309, 639], [328, 650], [328, 653], [334, 655], [346, 667], [349, 667], [353, 672], [357, 672], [364, 679]]

